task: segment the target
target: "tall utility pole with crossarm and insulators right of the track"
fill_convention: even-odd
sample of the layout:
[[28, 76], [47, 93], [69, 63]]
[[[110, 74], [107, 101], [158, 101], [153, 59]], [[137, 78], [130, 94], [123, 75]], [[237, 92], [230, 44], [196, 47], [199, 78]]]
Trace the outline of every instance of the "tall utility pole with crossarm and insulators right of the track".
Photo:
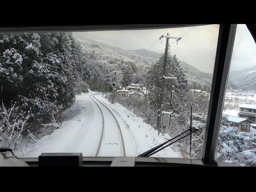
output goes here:
[[[166, 44], [165, 44], [165, 51], [164, 51], [164, 64], [163, 64], [163, 72], [162, 72], [162, 80], [161, 80], [161, 90], [160, 90], [160, 98], [159, 98], [159, 105], [158, 105], [158, 109], [160, 109], [160, 111], [158, 110], [158, 116], [157, 116], [157, 123], [156, 123], [156, 127], [158, 128], [158, 135], [160, 133], [160, 129], [161, 129], [161, 124], [160, 124], [160, 118], [161, 118], [161, 114], [162, 114], [162, 103], [163, 103], [163, 98], [164, 98], [164, 79], [165, 79], [165, 71], [166, 71], [166, 62], [167, 62], [167, 54], [168, 54], [168, 42], [169, 39], [177, 39], [177, 42], [181, 39], [181, 37], [171, 37], [169, 36], [169, 34], [167, 33], [167, 36], [160, 36], [160, 40], [161, 38], [165, 37], [166, 38]], [[160, 115], [159, 115], [160, 114]]]

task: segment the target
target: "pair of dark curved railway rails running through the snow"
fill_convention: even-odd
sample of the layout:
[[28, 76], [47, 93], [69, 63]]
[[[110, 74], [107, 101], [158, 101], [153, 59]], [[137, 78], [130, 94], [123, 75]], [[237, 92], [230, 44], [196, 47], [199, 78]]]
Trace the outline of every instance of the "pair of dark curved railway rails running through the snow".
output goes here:
[[[91, 94], [90, 97], [94, 99], [96, 99], [100, 104], [102, 104], [107, 110], [108, 112], [110, 112], [110, 114], [114, 117], [115, 121], [116, 121], [116, 125], [118, 126], [118, 131], [119, 131], [119, 135], [120, 135], [120, 139], [121, 139], [121, 142], [122, 142], [122, 151], [123, 151], [123, 155], [126, 156], [125, 154], [125, 148], [124, 148], [124, 139], [123, 139], [123, 136], [122, 136], [122, 132], [121, 132], [121, 129], [120, 129], [120, 125], [118, 123], [118, 121], [116, 120], [116, 117], [114, 116], [114, 114], [110, 111], [110, 109], [105, 105], [103, 104], [100, 100], [98, 100], [97, 98], [95, 98], [95, 95], [100, 95], [100, 94]], [[98, 105], [98, 103], [92, 98], [92, 100], [97, 104], [98, 108], [100, 108], [100, 106]], [[98, 146], [98, 149], [97, 149], [97, 152], [96, 152], [96, 155], [95, 156], [98, 156], [98, 153], [99, 153], [99, 150], [100, 150], [100, 146], [102, 144], [102, 138], [103, 138], [103, 133], [104, 131], [106, 131], [106, 128], [104, 129], [104, 115], [103, 115], [103, 112], [102, 112], [102, 109], [100, 108], [100, 112], [102, 114], [102, 120], [103, 120], [103, 125], [102, 125], [102, 134], [101, 134], [101, 138], [100, 138], [100, 143], [99, 143], [99, 146]]]

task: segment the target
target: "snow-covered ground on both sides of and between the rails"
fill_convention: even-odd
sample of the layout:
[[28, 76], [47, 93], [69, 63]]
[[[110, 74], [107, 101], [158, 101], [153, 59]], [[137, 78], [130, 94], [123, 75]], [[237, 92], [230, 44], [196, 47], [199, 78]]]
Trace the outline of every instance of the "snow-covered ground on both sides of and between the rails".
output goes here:
[[[60, 128], [54, 130], [51, 135], [44, 136], [33, 144], [27, 144], [18, 152], [18, 155], [29, 158], [38, 157], [43, 152], [82, 152], [83, 156], [95, 156], [102, 132], [102, 116], [100, 109], [90, 98], [90, 94], [93, 93], [95, 92], [89, 91], [89, 93], [76, 96], [76, 102], [64, 112], [68, 120], [62, 122]], [[170, 139], [168, 134], [158, 136], [157, 130], [120, 104], [110, 104], [100, 95], [97, 95], [96, 98], [104, 102], [116, 116], [122, 131], [126, 156], [138, 156]], [[102, 106], [100, 107], [103, 109]], [[103, 114], [104, 118], [110, 120], [106, 111]], [[108, 142], [108, 140], [113, 140], [115, 122], [105, 126], [107, 132], [104, 133], [101, 143], [101, 146], [104, 147], [100, 149], [98, 156], [122, 156], [122, 153], [114, 152], [116, 149], [113, 148], [113, 145], [120, 146], [120, 143]], [[171, 147], [167, 147], [152, 157], [179, 158], [181, 155]]]

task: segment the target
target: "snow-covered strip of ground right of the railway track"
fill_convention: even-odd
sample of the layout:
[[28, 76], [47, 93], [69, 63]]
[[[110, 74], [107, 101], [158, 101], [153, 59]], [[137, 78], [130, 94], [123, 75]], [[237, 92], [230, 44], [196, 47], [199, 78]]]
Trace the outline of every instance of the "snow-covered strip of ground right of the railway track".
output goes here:
[[[122, 134], [124, 137], [124, 145], [126, 149], [126, 156], [138, 156], [139, 154], [154, 148], [155, 146], [170, 139], [168, 134], [162, 136], [158, 135], [158, 131], [154, 130], [152, 126], [143, 122], [143, 119], [137, 117], [131, 111], [124, 108], [119, 103], [111, 104], [106, 98], [98, 96], [104, 104], [114, 113], [116, 119], [120, 124]], [[178, 152], [167, 147], [160, 152], [152, 155], [152, 157], [175, 157], [180, 158]]]

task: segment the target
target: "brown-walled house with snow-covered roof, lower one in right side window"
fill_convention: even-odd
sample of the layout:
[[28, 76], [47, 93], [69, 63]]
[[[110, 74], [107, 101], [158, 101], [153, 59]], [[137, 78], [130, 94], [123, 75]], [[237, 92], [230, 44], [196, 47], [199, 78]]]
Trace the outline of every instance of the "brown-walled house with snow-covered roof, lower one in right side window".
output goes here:
[[249, 132], [250, 131], [250, 123], [254, 123], [254, 122], [252, 122], [246, 118], [242, 118], [242, 117], [226, 115], [226, 118], [229, 122], [232, 123], [231, 126], [237, 127], [238, 130], [243, 131], [243, 132]]

